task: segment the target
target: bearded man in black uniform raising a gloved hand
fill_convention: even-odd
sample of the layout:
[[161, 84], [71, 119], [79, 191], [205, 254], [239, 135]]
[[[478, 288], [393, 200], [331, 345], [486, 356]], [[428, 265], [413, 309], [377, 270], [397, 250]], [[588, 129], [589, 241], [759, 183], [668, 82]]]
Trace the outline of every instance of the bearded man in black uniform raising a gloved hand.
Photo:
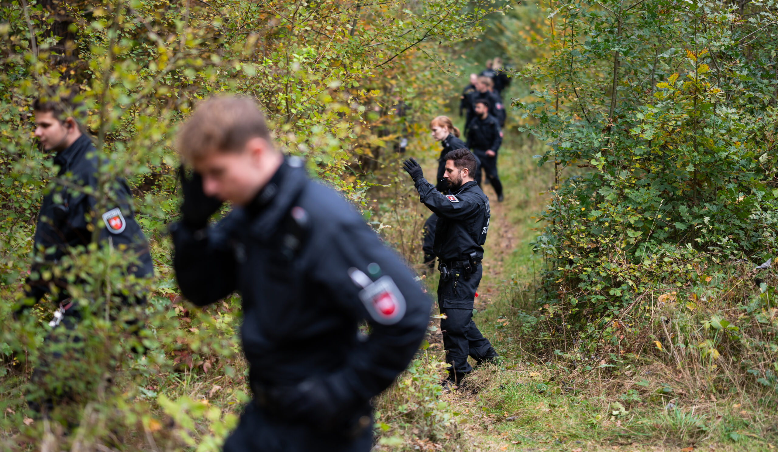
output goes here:
[[497, 356], [472, 320], [489, 229], [489, 198], [471, 176], [475, 158], [467, 149], [446, 155], [447, 195], [424, 179], [421, 166], [413, 158], [404, 166], [419, 191], [419, 200], [438, 217], [433, 248], [440, 269], [438, 307], [446, 315], [440, 320], [440, 329], [446, 362], [451, 364], [447, 383], [456, 385], [472, 370], [468, 355], [477, 363]]

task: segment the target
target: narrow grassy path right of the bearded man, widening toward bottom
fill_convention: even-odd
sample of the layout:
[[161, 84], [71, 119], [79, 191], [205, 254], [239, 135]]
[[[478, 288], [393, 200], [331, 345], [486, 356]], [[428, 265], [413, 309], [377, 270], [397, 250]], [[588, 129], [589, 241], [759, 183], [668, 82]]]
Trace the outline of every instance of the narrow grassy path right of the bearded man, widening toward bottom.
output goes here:
[[[622, 421], [608, 419], [617, 395], [567, 395], [552, 370], [532, 356], [520, 356], [513, 339], [503, 325], [514, 318], [510, 292], [514, 281], [532, 280], [541, 265], [533, 259], [529, 243], [537, 235], [534, 216], [543, 209], [546, 190], [553, 184], [553, 166], [538, 167], [534, 154], [537, 145], [506, 137], [499, 157], [499, 173], [506, 194], [496, 202], [491, 186], [484, 191], [492, 200], [492, 217], [485, 245], [484, 277], [478, 288], [475, 322], [503, 356], [501, 366], [478, 368], [469, 383], [444, 395], [463, 414], [460, 428], [464, 449], [491, 451], [569, 451], [620, 450], [624, 452], [661, 452], [691, 450], [774, 450], [768, 443], [717, 443], [710, 439], [695, 443], [678, 441], [692, 429], [685, 419], [671, 419], [661, 407], [647, 405], [634, 409]], [[433, 337], [442, 350], [440, 334]], [[640, 404], [643, 405], [643, 404]], [[691, 418], [689, 418], [691, 419]], [[668, 443], [668, 432], [675, 438]], [[713, 440], [713, 442], [710, 442]]]

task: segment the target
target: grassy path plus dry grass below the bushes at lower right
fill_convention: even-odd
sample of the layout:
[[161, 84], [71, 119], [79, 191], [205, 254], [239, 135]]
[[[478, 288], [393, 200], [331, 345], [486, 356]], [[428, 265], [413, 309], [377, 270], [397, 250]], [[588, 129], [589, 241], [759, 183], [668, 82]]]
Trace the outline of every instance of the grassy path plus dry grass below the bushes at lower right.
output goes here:
[[[476, 370], [452, 402], [471, 449], [772, 450], [773, 271], [692, 269], [680, 287], [593, 323], [591, 336], [560, 332], [559, 312], [536, 301], [543, 264], [528, 245], [548, 173], [533, 174], [532, 148], [518, 149], [501, 175], [506, 203], [527, 203], [506, 213], [520, 239], [499, 280], [485, 276], [496, 289], [475, 317], [503, 361]], [[499, 245], [488, 241], [487, 254]]]

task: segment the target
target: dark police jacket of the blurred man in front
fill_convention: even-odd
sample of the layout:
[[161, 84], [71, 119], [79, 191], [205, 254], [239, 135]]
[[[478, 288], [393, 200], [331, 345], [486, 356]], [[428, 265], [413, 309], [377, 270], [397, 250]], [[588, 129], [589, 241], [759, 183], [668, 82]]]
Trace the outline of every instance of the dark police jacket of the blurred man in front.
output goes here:
[[[255, 397], [289, 422], [339, 429], [369, 415], [370, 398], [405, 370], [426, 332], [431, 301], [411, 271], [297, 159], [282, 164], [250, 206], [203, 231], [178, 223], [172, 232], [184, 297], [202, 306], [240, 293]], [[357, 276], [370, 286], [359, 287]], [[404, 313], [394, 305], [378, 312], [381, 300], [366, 298], [387, 280], [399, 293], [394, 300], [404, 298]], [[366, 337], [363, 320], [371, 325]], [[265, 400], [285, 393], [286, 402]]]

